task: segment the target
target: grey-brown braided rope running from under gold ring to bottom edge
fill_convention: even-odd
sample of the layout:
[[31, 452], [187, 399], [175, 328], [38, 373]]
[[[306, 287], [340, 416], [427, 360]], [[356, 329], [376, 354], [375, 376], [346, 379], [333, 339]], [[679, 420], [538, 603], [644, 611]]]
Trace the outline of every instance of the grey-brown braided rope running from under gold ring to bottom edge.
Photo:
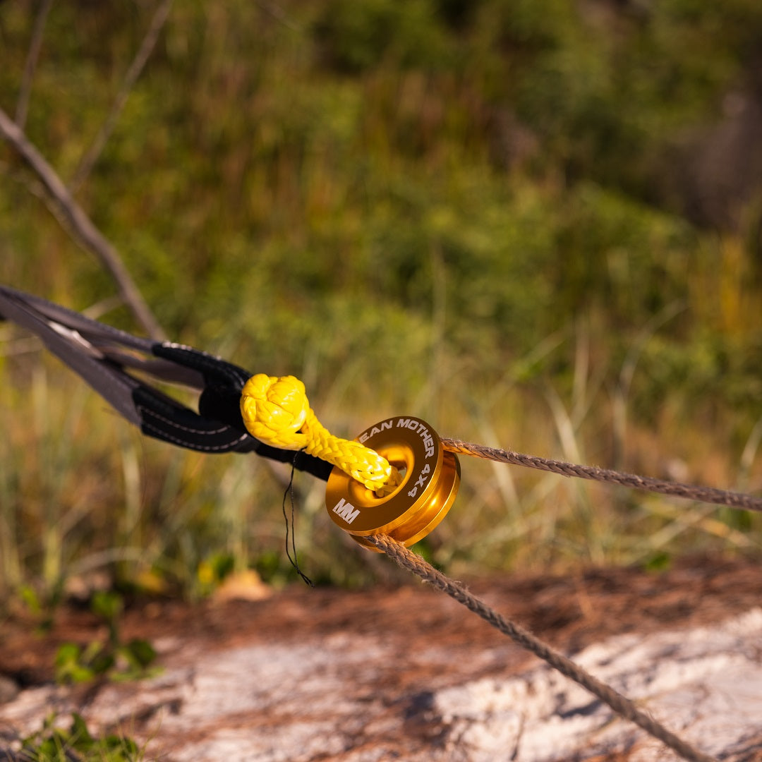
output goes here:
[[629, 719], [631, 722], [639, 725], [640, 728], [643, 728], [649, 735], [658, 738], [663, 744], [677, 754], [680, 754], [680, 757], [689, 760], [689, 762], [716, 762], [714, 757], [703, 754], [702, 751], [693, 748], [687, 741], [678, 738], [677, 735], [674, 735], [674, 733], [665, 728], [664, 725], [661, 725], [660, 722], [657, 722], [652, 716], [638, 709], [626, 696], [597, 680], [596, 677], [593, 677], [589, 672], [581, 668], [579, 664], [575, 664], [558, 651], [555, 651], [554, 648], [551, 648], [545, 642], [533, 636], [527, 629], [511, 622], [511, 620], [505, 619], [504, 616], [488, 607], [484, 601], [469, 593], [462, 584], [451, 580], [440, 571], [437, 571], [431, 564], [424, 561], [421, 556], [408, 550], [395, 539], [386, 534], [376, 534], [367, 539], [376, 548], [389, 555], [389, 558], [397, 565], [412, 571], [413, 574], [424, 582], [429, 582], [438, 590], [454, 598], [459, 604], [463, 604], [473, 613], [481, 616], [485, 622], [513, 639], [522, 648], [526, 648], [527, 651], [543, 659], [552, 668], [574, 680], [575, 683], [590, 691], [594, 696], [597, 696], [597, 698], [610, 706], [616, 714], [624, 719]]

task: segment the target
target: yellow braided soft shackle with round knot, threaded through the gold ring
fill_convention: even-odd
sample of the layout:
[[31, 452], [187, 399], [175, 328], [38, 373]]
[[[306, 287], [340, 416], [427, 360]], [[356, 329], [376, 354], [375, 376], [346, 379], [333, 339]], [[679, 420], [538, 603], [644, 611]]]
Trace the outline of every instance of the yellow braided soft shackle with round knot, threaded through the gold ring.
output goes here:
[[402, 482], [397, 469], [375, 450], [331, 434], [310, 408], [304, 384], [294, 376], [251, 376], [241, 392], [241, 415], [251, 436], [272, 447], [305, 450], [327, 460], [379, 497]]

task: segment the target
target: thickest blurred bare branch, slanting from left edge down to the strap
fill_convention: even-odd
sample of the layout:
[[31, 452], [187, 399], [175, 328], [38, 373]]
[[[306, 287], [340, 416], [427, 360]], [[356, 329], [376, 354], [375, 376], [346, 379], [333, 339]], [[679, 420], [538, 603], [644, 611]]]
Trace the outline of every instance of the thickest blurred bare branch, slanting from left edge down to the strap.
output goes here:
[[161, 325], [155, 319], [142, 294], [133, 282], [117, 250], [94, 226], [82, 207], [72, 198], [56, 171], [46, 162], [40, 152], [29, 142], [24, 131], [0, 108], [0, 136], [13, 146], [24, 162], [37, 175], [46, 191], [61, 213], [61, 218], [70, 234], [87, 251], [90, 251], [107, 269], [117, 282], [120, 296], [135, 315], [137, 321], [155, 339], [165, 338]]

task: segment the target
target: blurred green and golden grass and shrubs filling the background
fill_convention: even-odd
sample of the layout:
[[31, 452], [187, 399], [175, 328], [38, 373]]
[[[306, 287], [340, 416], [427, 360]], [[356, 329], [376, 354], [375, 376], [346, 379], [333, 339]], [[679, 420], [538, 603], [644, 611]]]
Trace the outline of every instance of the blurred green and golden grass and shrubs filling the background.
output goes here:
[[[9, 114], [38, 5], [0, 3]], [[53, 2], [26, 130], [65, 182], [155, 8]], [[299, 376], [336, 434], [405, 413], [759, 491], [760, 40], [758, 0], [176, 0], [76, 197], [172, 339]], [[139, 330], [4, 144], [0, 281]], [[293, 578], [266, 464], [143, 439], [0, 331], [0, 597]], [[296, 487], [309, 575], [383, 573]], [[760, 545], [757, 516], [469, 460], [423, 549], [463, 575]]]

